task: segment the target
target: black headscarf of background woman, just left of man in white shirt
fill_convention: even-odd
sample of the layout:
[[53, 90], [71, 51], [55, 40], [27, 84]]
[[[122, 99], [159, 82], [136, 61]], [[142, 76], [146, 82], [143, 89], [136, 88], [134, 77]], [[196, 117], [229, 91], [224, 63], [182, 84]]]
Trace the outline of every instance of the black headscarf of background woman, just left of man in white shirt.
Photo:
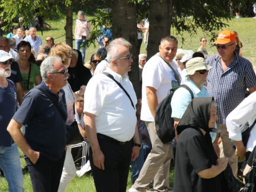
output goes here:
[[[68, 68], [69, 69], [68, 82], [72, 88], [72, 91], [75, 92], [80, 90], [81, 86], [83, 85], [87, 86], [88, 81], [92, 78], [92, 74], [90, 69], [83, 66], [81, 52], [76, 49], [73, 49], [73, 50], [77, 51], [78, 58], [77, 58], [76, 67]], [[75, 78], [74, 78], [74, 75], [75, 75]]]

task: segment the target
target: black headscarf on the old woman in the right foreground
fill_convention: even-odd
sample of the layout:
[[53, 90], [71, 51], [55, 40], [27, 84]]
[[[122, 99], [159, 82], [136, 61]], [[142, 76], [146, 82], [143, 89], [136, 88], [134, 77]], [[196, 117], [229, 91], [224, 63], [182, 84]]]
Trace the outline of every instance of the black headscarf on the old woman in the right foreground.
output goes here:
[[212, 100], [214, 100], [213, 97], [194, 98], [191, 100], [177, 126], [177, 134], [179, 135], [188, 127], [194, 126], [209, 133], [210, 106]]

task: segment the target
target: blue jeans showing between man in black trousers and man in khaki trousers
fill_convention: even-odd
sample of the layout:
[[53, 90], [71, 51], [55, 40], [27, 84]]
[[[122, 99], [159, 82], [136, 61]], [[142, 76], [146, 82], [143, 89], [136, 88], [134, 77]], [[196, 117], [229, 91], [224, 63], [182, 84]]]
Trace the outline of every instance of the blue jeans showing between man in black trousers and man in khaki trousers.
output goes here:
[[[142, 137], [139, 133], [139, 137], [140, 137], [140, 143], [142, 143]], [[139, 156], [135, 159], [135, 161], [131, 161], [131, 165], [132, 165], [132, 176], [131, 176], [131, 180], [134, 183], [136, 181], [136, 179], [138, 179], [139, 174], [140, 174], [140, 170], [144, 164], [145, 160], [144, 160], [144, 150], [143, 147], [140, 148], [140, 153]]]

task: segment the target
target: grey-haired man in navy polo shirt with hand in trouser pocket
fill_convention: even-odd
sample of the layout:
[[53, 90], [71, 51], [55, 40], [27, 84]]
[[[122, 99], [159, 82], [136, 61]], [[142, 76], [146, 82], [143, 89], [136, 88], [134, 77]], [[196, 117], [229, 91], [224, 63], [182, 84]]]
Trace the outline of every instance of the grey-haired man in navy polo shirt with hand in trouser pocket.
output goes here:
[[[68, 116], [65, 93], [69, 74], [59, 57], [46, 58], [38, 85]], [[23, 134], [20, 127], [23, 125]], [[7, 127], [24, 152], [33, 191], [57, 191], [65, 160], [66, 125], [56, 106], [38, 89], [30, 90]]]

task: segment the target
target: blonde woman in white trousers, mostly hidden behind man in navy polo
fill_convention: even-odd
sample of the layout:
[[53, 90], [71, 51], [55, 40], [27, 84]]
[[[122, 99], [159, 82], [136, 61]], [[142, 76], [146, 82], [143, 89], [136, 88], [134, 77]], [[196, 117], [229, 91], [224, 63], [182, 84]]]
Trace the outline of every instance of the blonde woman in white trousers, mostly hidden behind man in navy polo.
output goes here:
[[[70, 61], [72, 59], [72, 53], [73, 53], [73, 50], [69, 45], [58, 42], [51, 49], [49, 56], [60, 57], [63, 65], [68, 70], [70, 66]], [[71, 125], [75, 120], [74, 104], [76, 102], [76, 96], [83, 96], [85, 86], [83, 88], [81, 87], [81, 89], [77, 91], [75, 94], [72, 92], [72, 89], [69, 83], [67, 83], [67, 85], [62, 89], [65, 91], [67, 110], [68, 110], [68, 118], [66, 120], [66, 124]], [[71, 182], [71, 180], [76, 175], [76, 167], [71, 154], [71, 146], [72, 145], [67, 145], [66, 158], [65, 158], [62, 175], [59, 183], [59, 188], [58, 188], [59, 192], [65, 191], [69, 183]]]

